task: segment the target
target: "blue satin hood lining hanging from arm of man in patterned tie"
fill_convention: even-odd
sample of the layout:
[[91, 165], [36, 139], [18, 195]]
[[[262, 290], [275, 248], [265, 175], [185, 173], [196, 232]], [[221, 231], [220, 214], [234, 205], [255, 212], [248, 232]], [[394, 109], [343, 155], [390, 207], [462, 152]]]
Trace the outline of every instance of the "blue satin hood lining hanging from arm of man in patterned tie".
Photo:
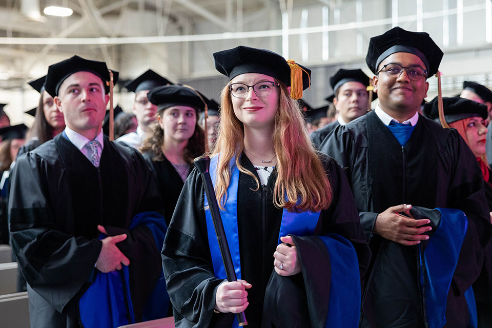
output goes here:
[[[160, 214], [143, 212], [135, 215], [129, 230], [144, 224], [154, 236], [159, 248], [164, 241], [167, 226]], [[99, 239], [105, 238], [101, 234]], [[108, 273], [97, 272], [94, 281], [79, 300], [80, 321], [86, 328], [104, 327], [116, 328], [121, 325], [135, 323], [135, 314], [130, 294], [130, 275], [125, 265], [120, 271]], [[169, 306], [169, 296], [166, 281], [159, 279], [154, 291], [149, 297], [144, 311], [143, 320], [165, 317]]]

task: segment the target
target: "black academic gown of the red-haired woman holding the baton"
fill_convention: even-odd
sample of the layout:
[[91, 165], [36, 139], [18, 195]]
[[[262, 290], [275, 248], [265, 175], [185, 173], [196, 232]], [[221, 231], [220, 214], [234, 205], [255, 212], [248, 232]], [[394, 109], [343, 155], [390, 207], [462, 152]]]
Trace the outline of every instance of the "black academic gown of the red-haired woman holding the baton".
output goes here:
[[[256, 174], [244, 154], [241, 163]], [[326, 159], [324, 164], [332, 183], [334, 199], [332, 206], [322, 211], [314, 234], [333, 232], [350, 240], [357, 251], [362, 277], [370, 252], [358, 222], [353, 196], [336, 162]], [[241, 277], [253, 285], [248, 290], [250, 304], [245, 311], [251, 327], [261, 326], [265, 289], [273, 271], [273, 253], [279, 237], [282, 210], [274, 206], [272, 192], [276, 174], [274, 170], [267, 186], [257, 191], [254, 191], [256, 183], [252, 177], [243, 173], [239, 176], [238, 240]], [[174, 305], [176, 327], [230, 327], [234, 317], [230, 313], [213, 312], [217, 286], [223, 280], [214, 276], [203, 199], [203, 182], [195, 169], [179, 197], [162, 249], [162, 263]], [[296, 276], [292, 278], [296, 279]]]

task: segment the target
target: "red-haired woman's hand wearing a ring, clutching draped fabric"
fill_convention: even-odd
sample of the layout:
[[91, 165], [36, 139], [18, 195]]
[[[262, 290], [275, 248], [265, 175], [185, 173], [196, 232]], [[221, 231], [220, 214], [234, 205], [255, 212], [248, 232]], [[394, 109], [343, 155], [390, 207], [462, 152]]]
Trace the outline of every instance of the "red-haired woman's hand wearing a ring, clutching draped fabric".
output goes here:
[[[301, 272], [301, 265], [297, 260], [297, 248], [291, 236], [280, 237], [282, 244], [277, 246], [273, 253], [275, 272], [281, 276], [293, 276]], [[289, 245], [286, 245], [289, 244]], [[283, 264], [282, 264], [283, 263]], [[282, 269], [280, 269], [280, 266]]]

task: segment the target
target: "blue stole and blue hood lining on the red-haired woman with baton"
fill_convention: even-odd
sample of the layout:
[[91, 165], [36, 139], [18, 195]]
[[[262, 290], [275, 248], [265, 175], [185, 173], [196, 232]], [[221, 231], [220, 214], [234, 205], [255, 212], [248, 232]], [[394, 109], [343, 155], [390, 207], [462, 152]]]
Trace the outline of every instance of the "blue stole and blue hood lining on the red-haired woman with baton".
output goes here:
[[[225, 210], [220, 210], [220, 215], [224, 230], [226, 231], [227, 242], [234, 263], [234, 270], [237, 278], [240, 279], [241, 265], [237, 228], [237, 190], [240, 172], [236, 166], [235, 160], [235, 157], [233, 157], [229, 163], [231, 168], [231, 180], [227, 189], [227, 201], [224, 206]], [[211, 158], [209, 171], [214, 186], [216, 182], [217, 163], [218, 156]], [[205, 196], [204, 207], [206, 209], [207, 232], [214, 274], [217, 278], [226, 279], [226, 271], [220, 255], [220, 249], [208, 204], [207, 196]], [[319, 220], [319, 215], [320, 212], [313, 213], [306, 211], [295, 213], [284, 209], [278, 242], [280, 243], [280, 236], [286, 236], [288, 234], [296, 236], [313, 235]], [[355, 252], [352, 243], [339, 235], [329, 234], [327, 236], [320, 236], [320, 238], [323, 240], [329, 251], [330, 264], [332, 267], [330, 306], [326, 327], [340, 326], [340, 322], [347, 322], [347, 324], [343, 324], [342, 326], [355, 328], [358, 326], [359, 316], [354, 314], [360, 313], [360, 277], [357, 253]], [[232, 326], [238, 327], [236, 317], [234, 318]]]

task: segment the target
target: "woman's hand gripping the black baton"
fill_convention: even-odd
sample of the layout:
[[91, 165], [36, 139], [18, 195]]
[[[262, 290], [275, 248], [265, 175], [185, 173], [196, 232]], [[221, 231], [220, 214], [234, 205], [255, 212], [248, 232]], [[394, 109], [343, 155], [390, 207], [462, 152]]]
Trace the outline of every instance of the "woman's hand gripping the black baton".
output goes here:
[[246, 280], [224, 281], [215, 293], [215, 309], [222, 313], [239, 313], [248, 308], [247, 289], [251, 288], [251, 283]]

